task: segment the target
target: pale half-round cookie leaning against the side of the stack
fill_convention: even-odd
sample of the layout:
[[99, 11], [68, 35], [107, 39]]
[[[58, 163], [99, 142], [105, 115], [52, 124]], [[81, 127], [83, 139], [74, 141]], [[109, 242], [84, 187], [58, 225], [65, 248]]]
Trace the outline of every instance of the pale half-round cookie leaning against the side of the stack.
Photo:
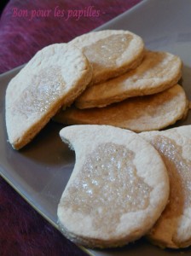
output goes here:
[[52, 44], [38, 51], [6, 91], [6, 125], [13, 148], [29, 143], [61, 106], [74, 101], [91, 76], [80, 49]]

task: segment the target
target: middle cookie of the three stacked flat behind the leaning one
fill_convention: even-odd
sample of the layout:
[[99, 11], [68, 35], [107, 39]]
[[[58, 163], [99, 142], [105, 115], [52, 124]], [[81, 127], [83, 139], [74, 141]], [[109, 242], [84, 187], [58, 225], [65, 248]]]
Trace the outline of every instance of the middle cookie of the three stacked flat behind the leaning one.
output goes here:
[[132, 96], [158, 93], [177, 84], [182, 75], [182, 61], [167, 52], [147, 51], [136, 69], [102, 84], [87, 88], [78, 97], [78, 108], [104, 107]]

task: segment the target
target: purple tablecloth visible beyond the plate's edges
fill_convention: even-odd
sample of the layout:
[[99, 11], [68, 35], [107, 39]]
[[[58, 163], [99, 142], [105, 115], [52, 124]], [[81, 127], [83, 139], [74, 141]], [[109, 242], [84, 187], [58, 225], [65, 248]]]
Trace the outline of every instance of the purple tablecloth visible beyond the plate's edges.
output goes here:
[[[45, 45], [68, 42], [139, 2], [10, 0], [0, 20], [0, 73], [29, 61]], [[47, 223], [0, 177], [0, 255], [86, 254]]]

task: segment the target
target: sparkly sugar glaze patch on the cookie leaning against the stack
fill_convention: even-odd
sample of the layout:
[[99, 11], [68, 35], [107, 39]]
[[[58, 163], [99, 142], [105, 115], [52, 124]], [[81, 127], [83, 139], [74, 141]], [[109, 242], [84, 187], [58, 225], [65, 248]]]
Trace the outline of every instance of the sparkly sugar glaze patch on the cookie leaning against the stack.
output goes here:
[[59, 67], [49, 72], [43, 69], [38, 78], [32, 78], [32, 86], [23, 90], [22, 95], [15, 102], [14, 112], [16, 110], [26, 119], [33, 114], [44, 113], [60, 98], [61, 91], [65, 90], [65, 87], [66, 83]]

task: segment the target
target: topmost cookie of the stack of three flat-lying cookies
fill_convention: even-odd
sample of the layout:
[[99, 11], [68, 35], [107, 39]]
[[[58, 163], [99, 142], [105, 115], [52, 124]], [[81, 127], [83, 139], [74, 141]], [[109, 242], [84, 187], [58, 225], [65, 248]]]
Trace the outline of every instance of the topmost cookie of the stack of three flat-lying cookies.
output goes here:
[[123, 30], [90, 32], [69, 44], [84, 50], [93, 66], [91, 84], [97, 84], [137, 67], [142, 61], [144, 43], [136, 34]]

